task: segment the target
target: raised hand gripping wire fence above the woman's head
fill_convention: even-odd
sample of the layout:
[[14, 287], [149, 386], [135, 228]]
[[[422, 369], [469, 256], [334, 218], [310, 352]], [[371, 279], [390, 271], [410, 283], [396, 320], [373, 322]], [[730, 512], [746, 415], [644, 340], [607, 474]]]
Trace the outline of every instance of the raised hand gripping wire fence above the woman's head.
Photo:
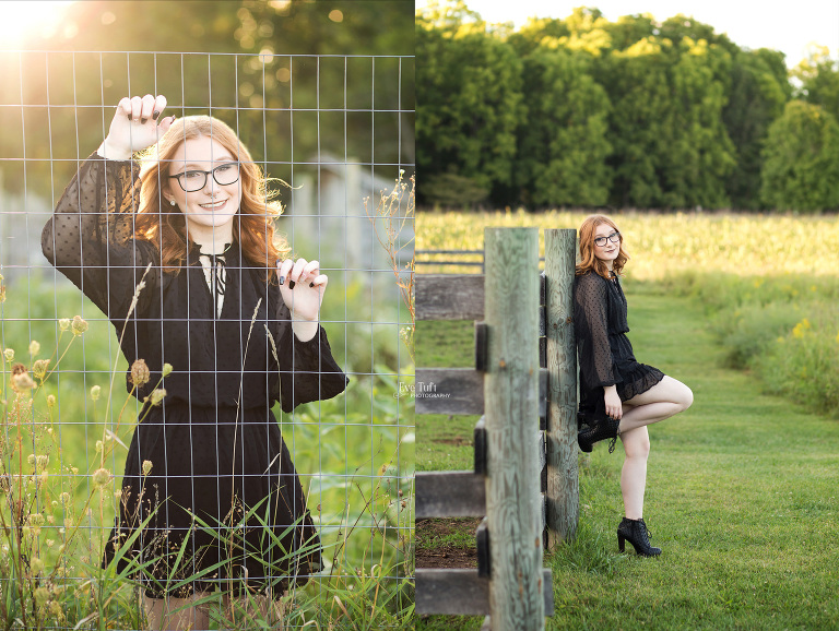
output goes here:
[[163, 95], [125, 97], [117, 105], [108, 136], [97, 153], [108, 159], [126, 160], [131, 159], [134, 152], [155, 144], [175, 122], [174, 116], [161, 120], [165, 107], [166, 97]]

